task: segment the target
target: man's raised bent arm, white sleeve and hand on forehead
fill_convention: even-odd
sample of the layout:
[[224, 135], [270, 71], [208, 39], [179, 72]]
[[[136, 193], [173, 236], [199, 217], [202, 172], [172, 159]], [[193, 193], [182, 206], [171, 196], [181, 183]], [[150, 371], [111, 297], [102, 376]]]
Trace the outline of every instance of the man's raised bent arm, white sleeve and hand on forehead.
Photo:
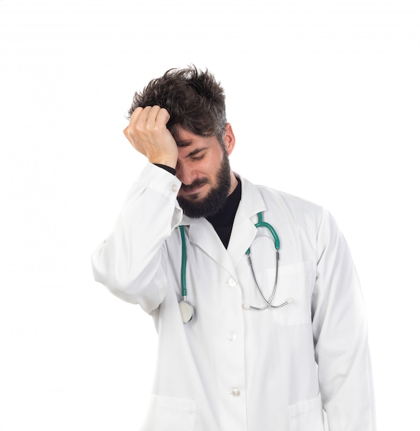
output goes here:
[[[169, 114], [160, 107], [138, 108], [125, 134], [150, 162], [176, 166], [178, 148], [166, 128]], [[180, 181], [147, 165], [127, 196], [114, 232], [92, 255], [95, 280], [128, 302], [150, 312], [165, 296], [165, 240], [182, 218], [176, 196]]]

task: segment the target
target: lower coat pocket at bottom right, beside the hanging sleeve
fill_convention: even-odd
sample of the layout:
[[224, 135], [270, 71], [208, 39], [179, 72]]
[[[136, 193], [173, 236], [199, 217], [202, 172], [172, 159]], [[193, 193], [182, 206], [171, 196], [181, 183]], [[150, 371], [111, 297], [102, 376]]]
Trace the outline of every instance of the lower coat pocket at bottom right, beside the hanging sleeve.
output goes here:
[[324, 431], [321, 394], [303, 403], [288, 406], [290, 431]]

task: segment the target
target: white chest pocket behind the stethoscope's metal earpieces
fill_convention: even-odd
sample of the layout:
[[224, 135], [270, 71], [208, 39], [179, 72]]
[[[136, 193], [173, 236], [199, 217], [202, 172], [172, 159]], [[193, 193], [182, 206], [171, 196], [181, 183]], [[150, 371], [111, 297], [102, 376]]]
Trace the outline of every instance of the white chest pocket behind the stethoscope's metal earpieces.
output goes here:
[[[269, 279], [275, 269], [267, 270]], [[275, 320], [282, 326], [311, 323], [311, 291], [314, 283], [312, 262], [280, 265], [274, 305], [291, 302], [280, 308], [271, 308]]]

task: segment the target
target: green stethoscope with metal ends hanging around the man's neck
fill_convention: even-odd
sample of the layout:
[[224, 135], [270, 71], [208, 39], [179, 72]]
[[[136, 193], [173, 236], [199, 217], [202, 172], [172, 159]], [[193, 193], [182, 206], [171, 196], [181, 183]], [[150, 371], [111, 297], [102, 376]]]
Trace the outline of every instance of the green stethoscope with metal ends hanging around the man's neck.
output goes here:
[[[260, 297], [262, 301], [264, 302], [264, 306], [262, 307], [256, 307], [252, 306], [250, 304], [242, 304], [242, 308], [244, 310], [266, 310], [266, 308], [281, 308], [284, 307], [287, 304], [291, 304], [293, 302], [293, 298], [286, 299], [285, 302], [279, 305], [273, 305], [273, 300], [275, 297], [275, 292], [277, 291], [277, 279], [278, 279], [278, 273], [279, 273], [279, 262], [280, 262], [280, 239], [277, 235], [277, 232], [275, 229], [271, 226], [271, 224], [264, 222], [262, 219], [262, 213], [258, 213], [258, 222], [255, 223], [255, 227], [258, 229], [259, 227], [265, 227], [266, 229], [269, 229], [271, 235], [273, 236], [274, 240], [274, 247], [275, 247], [275, 280], [274, 280], [274, 286], [273, 291], [271, 292], [271, 295], [269, 299], [267, 299], [262, 293], [262, 290], [260, 288], [260, 285], [258, 284], [257, 277], [255, 277], [255, 273], [253, 270], [253, 263], [251, 260], [251, 247], [249, 247], [248, 250], [246, 250], [245, 254], [248, 257], [248, 263], [251, 267], [251, 273], [253, 275], [253, 279], [255, 281], [255, 286], [257, 288], [258, 293], [260, 294]], [[180, 306], [180, 313], [182, 317], [182, 322], [187, 324], [188, 322], [191, 322], [191, 319], [194, 317], [194, 307], [192, 306], [191, 302], [187, 301], [187, 282], [186, 282], [186, 272], [187, 272], [187, 245], [185, 242], [185, 231], [184, 227], [180, 226], [180, 235], [181, 235], [181, 244], [182, 244], [182, 259], [181, 259], [181, 294], [182, 299], [179, 302]]]

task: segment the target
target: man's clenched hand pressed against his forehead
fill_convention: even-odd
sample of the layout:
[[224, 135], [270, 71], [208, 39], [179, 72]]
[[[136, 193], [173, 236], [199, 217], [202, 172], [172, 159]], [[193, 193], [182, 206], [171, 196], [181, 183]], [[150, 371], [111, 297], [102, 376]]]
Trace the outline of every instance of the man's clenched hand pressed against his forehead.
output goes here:
[[176, 168], [178, 147], [174, 136], [167, 129], [169, 112], [160, 106], [138, 107], [124, 129], [132, 146], [151, 163]]

